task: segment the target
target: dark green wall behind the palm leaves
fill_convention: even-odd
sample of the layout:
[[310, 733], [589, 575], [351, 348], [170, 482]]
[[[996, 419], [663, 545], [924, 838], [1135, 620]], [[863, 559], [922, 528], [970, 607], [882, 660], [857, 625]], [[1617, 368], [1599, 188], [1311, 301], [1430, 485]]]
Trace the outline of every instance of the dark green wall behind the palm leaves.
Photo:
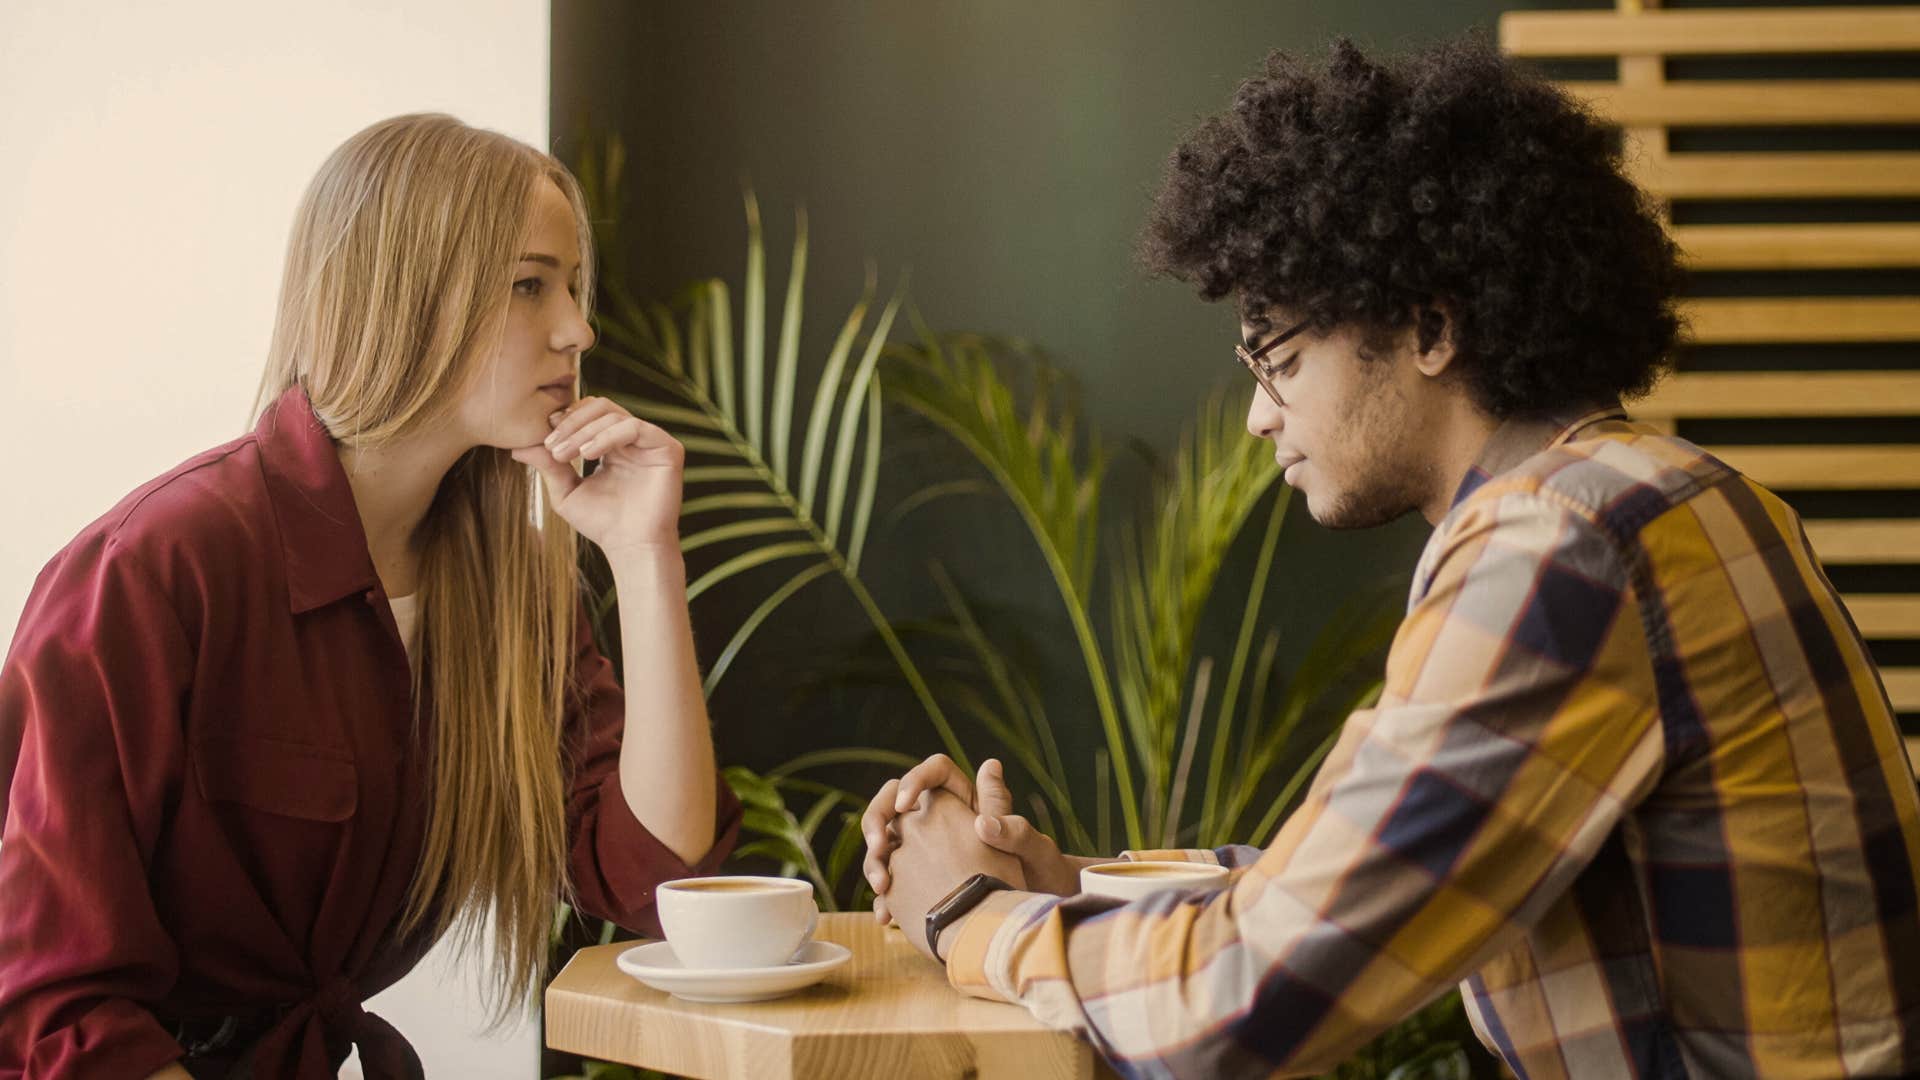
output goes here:
[[[1165, 450], [1210, 386], [1244, 379], [1231, 365], [1233, 311], [1133, 265], [1144, 208], [1181, 133], [1225, 108], [1273, 48], [1319, 50], [1336, 35], [1404, 48], [1492, 33], [1498, 12], [1515, 6], [1578, 4], [555, 0], [553, 131], [563, 154], [584, 123], [624, 135], [624, 258], [645, 290], [664, 294], [697, 275], [737, 279], [749, 181], [776, 279], [791, 208], [804, 202], [810, 213], [814, 321], [803, 356], [826, 350], [874, 258], [883, 282], [912, 271], [912, 296], [935, 327], [1041, 342], [1083, 379], [1104, 432]], [[776, 286], [770, 309], [778, 302]], [[941, 469], [937, 448], [912, 438], [910, 425], [889, 434], [902, 459], [931, 455], [924, 467]], [[893, 494], [906, 482], [895, 477]], [[945, 548], [987, 600], [1048, 625], [1054, 607], [1018, 523], [943, 513], [910, 523], [895, 550]], [[968, 540], [962, 552], [943, 544], [954, 536]], [[1296, 507], [1269, 607], [1283, 657], [1298, 657], [1357, 582], [1404, 575], [1425, 536], [1417, 519], [1329, 534]], [[877, 575], [897, 611], [927, 603], [918, 559]], [[730, 617], [730, 601], [718, 603], [697, 609], [708, 661]], [[1227, 598], [1223, 619], [1236, 611]], [[829, 584], [785, 615], [714, 701], [724, 755], [766, 765], [868, 738], [933, 748], [908, 700], [860, 715], [789, 705], [797, 673], [818, 667], [816, 628], [858, 617]], [[1083, 711], [1091, 724], [1083, 698], [1083, 684], [1054, 686], [1060, 713]]]

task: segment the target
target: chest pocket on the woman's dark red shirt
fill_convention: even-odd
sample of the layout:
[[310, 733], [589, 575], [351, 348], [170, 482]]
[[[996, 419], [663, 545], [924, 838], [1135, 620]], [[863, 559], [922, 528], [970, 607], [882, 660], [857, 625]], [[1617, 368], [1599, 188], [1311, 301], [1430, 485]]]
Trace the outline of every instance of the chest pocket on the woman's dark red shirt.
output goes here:
[[248, 734], [202, 736], [194, 782], [209, 803], [240, 803], [301, 821], [348, 821], [359, 805], [359, 771], [344, 751]]

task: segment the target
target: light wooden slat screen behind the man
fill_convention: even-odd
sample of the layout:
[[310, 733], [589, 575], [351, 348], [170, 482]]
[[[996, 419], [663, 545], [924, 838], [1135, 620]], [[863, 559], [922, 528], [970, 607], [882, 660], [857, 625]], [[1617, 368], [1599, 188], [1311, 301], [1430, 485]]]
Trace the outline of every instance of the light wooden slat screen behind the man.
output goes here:
[[1561, 85], [1620, 127], [1695, 277], [1634, 413], [1801, 509], [1920, 765], [1920, 6], [1682, 2], [1509, 12], [1500, 40], [1588, 61]]

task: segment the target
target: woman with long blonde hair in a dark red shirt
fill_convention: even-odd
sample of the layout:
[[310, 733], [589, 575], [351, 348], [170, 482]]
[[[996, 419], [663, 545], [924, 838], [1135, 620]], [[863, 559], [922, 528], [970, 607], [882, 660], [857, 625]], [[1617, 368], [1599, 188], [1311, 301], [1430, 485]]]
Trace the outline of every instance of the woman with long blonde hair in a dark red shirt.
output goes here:
[[578, 184], [501, 135], [407, 115], [321, 167], [255, 430], [60, 552], [0, 671], [0, 1076], [353, 1045], [417, 1076], [361, 1001], [440, 934], [492, 936], [505, 1015], [555, 899], [653, 928], [653, 886], [730, 849], [682, 448], [574, 394], [591, 263]]

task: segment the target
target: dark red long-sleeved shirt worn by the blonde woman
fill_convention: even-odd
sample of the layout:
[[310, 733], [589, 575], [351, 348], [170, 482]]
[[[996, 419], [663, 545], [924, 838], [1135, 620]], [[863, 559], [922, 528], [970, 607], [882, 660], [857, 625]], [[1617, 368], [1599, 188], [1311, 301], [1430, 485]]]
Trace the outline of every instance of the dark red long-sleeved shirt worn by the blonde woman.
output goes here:
[[[682, 863], [620, 794], [624, 698], [580, 619], [568, 869], [589, 915], [659, 932]], [[361, 1001], [420, 857], [428, 732], [353, 492], [303, 392], [127, 496], [35, 582], [0, 669], [0, 1078], [146, 1076], [159, 1017], [269, 1017], [253, 1074], [419, 1068]], [[422, 726], [430, 709], [422, 709]], [[12, 782], [8, 786], [8, 782]]]

